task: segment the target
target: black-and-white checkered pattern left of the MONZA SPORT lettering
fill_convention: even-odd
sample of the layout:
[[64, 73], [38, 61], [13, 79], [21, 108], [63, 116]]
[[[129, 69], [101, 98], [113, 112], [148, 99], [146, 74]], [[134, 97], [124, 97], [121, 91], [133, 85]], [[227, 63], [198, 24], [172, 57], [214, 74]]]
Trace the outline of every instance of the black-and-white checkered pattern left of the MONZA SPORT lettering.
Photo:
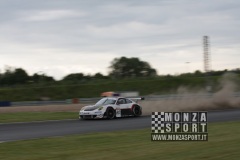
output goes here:
[[164, 133], [164, 112], [152, 112], [152, 133]]

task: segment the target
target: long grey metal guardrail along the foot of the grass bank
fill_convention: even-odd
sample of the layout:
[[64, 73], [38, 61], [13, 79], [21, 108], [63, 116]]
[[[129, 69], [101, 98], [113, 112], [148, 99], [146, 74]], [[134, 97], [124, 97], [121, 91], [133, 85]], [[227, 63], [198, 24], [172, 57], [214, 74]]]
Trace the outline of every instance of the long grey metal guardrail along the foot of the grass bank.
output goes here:
[[[168, 94], [168, 95], [151, 95], [144, 96], [146, 101], [157, 101], [157, 100], [171, 100], [171, 99], [185, 99], [185, 98], [212, 98], [215, 94]], [[240, 92], [235, 92], [231, 94], [232, 97], [240, 97]], [[61, 101], [24, 101], [24, 102], [11, 102], [11, 106], [42, 106], [42, 105], [64, 105], [64, 104], [74, 104], [74, 100], [77, 103], [82, 104], [94, 104], [101, 97], [95, 98], [77, 98], [77, 99], [66, 99]]]

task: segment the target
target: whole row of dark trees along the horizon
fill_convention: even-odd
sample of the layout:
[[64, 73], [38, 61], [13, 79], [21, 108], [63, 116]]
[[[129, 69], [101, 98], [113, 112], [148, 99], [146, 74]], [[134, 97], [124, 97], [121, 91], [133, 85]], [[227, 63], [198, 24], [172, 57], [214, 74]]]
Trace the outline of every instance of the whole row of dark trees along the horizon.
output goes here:
[[[62, 80], [56, 81], [52, 76], [48, 76], [44, 73], [34, 73], [28, 75], [22, 68], [5, 69], [4, 73], [0, 72], [0, 86], [18, 85], [18, 84], [39, 84], [39, 83], [79, 83], [88, 82], [91, 80], [104, 80], [104, 79], [123, 79], [123, 78], [142, 78], [142, 77], [158, 77], [156, 69], [152, 68], [148, 62], [141, 61], [139, 58], [127, 58], [120, 57], [115, 58], [109, 66], [109, 74], [107, 76], [96, 73], [94, 75], [85, 75], [83, 73], [71, 73], [66, 75]], [[223, 71], [211, 71], [211, 76], [220, 76], [227, 72]], [[240, 74], [239, 69], [232, 70], [235, 73]], [[183, 73], [180, 77], [201, 77], [205, 73], [201, 71], [195, 71], [194, 73]], [[172, 77], [172, 75], [165, 75], [165, 77]]]

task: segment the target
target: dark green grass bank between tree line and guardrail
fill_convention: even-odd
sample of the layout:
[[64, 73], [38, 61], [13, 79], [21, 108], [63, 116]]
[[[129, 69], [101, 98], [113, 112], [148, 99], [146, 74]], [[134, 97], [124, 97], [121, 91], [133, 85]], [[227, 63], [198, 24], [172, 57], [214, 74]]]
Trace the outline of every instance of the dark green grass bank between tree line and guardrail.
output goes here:
[[[218, 79], [215, 77], [214, 79]], [[68, 98], [88, 98], [99, 97], [106, 91], [139, 91], [140, 95], [147, 94], [167, 94], [177, 90], [180, 86], [189, 88], [203, 88], [205, 86], [204, 77], [174, 77], [174, 78], [135, 78], [121, 80], [101, 80], [96, 83], [73, 83], [73, 84], [54, 84], [33, 85], [0, 88], [0, 101], [34, 101], [41, 97], [51, 99]]]

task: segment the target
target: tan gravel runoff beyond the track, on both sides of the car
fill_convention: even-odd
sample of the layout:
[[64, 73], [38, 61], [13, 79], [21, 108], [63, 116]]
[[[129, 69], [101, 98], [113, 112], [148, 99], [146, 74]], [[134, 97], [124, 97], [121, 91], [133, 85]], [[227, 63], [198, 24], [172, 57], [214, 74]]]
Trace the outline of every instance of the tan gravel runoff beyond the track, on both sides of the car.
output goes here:
[[[151, 112], [161, 111], [194, 111], [194, 110], [218, 110], [240, 108], [239, 97], [228, 97], [226, 95], [212, 98], [190, 98], [164, 99], [157, 101], [139, 101], [143, 107], [143, 115], [150, 115]], [[44, 106], [19, 106], [0, 107], [1, 113], [15, 112], [78, 112], [83, 106], [89, 104], [65, 104], [65, 105], [44, 105]]]

